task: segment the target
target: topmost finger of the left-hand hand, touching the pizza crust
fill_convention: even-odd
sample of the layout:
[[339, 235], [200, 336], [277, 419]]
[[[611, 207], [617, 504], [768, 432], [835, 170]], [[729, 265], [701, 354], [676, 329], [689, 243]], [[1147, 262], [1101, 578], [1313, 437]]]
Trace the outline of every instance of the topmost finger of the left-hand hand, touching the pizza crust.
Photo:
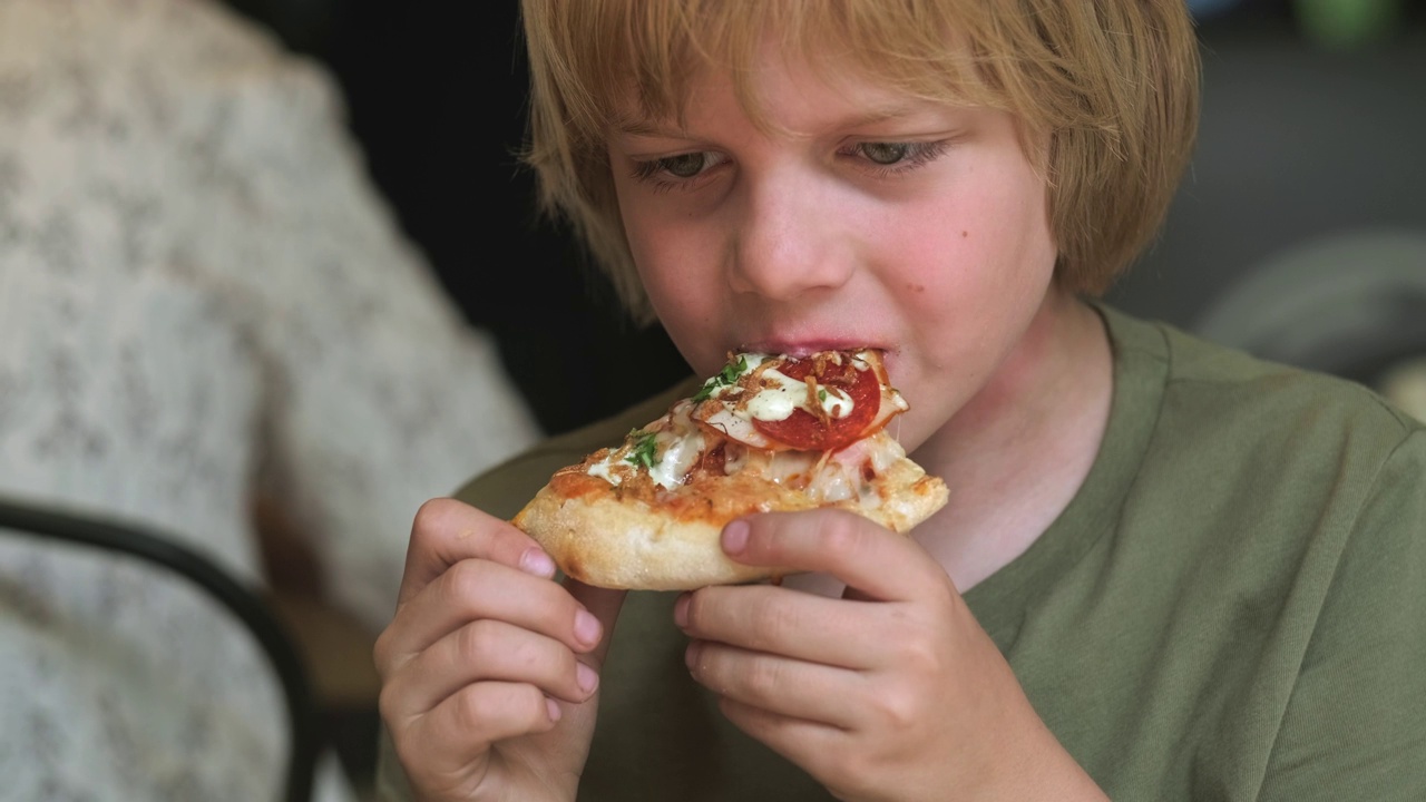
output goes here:
[[529, 535], [453, 498], [432, 498], [411, 524], [411, 544], [398, 608], [462, 559], [489, 559], [536, 577], [553, 577], [555, 562]]

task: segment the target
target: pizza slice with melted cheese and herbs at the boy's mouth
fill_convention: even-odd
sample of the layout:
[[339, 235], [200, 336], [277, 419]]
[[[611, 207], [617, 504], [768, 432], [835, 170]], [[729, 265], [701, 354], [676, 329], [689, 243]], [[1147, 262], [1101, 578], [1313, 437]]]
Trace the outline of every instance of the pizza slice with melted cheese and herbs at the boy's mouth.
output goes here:
[[880, 351], [733, 354], [623, 444], [560, 468], [513, 524], [582, 582], [692, 589], [787, 574], [719, 545], [752, 512], [838, 508], [906, 532], [947, 501], [886, 431], [908, 408]]

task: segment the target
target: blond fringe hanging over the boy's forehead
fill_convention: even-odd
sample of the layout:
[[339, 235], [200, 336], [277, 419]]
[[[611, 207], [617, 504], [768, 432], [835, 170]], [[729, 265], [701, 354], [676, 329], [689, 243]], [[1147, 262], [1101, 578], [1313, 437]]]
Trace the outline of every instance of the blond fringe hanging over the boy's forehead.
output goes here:
[[[965, 4], [970, 6], [970, 4]], [[971, 7], [973, 9], [973, 7]], [[729, 74], [749, 116], [766, 124], [757, 64], [771, 49], [827, 71], [856, 73], [908, 96], [1005, 107], [981, 76], [965, 39], [973, 21], [945, 3], [924, 0], [580, 0], [563, 6], [570, 34], [559, 83], [568, 123], [590, 143], [612, 127], [643, 120], [682, 121], [690, 84]], [[973, 13], [973, 10], [967, 10]], [[994, 50], [991, 47], [990, 50]]]

